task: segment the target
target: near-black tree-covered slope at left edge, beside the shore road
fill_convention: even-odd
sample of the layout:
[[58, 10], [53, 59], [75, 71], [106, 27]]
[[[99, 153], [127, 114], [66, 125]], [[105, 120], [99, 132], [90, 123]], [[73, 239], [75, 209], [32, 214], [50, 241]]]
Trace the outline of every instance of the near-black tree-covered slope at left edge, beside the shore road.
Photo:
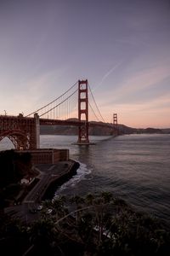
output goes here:
[[0, 152], [0, 209], [21, 201], [27, 187], [21, 184], [23, 177], [36, 177], [31, 165], [31, 154], [14, 149]]

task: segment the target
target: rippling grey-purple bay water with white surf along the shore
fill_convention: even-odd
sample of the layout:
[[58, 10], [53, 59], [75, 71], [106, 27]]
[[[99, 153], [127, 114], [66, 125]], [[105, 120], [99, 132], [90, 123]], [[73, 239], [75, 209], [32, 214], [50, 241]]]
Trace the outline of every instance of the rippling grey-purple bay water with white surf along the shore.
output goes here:
[[[76, 136], [41, 136], [41, 148], [69, 148], [71, 159], [80, 163], [77, 175], [56, 188], [55, 195], [111, 191], [139, 211], [170, 224], [170, 135], [90, 140], [95, 145], [74, 145]], [[0, 150], [12, 147], [6, 138], [0, 143]]]

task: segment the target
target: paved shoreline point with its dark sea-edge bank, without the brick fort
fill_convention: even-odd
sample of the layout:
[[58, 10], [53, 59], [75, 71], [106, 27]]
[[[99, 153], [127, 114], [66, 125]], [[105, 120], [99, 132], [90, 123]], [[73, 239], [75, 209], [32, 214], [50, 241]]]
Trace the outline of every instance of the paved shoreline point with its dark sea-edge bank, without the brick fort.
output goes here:
[[37, 218], [37, 206], [45, 199], [52, 199], [56, 188], [77, 174], [80, 164], [75, 160], [59, 161], [57, 164], [35, 166], [39, 174], [37, 183], [26, 194], [20, 204], [4, 208], [4, 213], [24, 222]]

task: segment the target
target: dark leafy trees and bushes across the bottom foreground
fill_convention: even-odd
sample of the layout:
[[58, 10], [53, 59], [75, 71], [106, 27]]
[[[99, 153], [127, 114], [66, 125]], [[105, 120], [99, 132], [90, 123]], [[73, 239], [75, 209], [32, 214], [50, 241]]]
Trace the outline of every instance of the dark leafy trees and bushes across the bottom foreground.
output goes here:
[[59, 196], [41, 208], [32, 224], [2, 216], [4, 255], [170, 255], [169, 228], [110, 192]]

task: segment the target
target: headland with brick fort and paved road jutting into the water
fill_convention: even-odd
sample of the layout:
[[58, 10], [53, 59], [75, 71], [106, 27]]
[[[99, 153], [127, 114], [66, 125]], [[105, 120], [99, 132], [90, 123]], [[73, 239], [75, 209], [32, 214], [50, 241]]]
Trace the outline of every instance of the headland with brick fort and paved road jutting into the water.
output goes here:
[[[19, 154], [27, 154], [21, 151]], [[35, 177], [23, 178], [20, 193], [10, 206], [4, 208], [4, 213], [18, 217], [24, 221], [36, 218], [37, 207], [41, 201], [53, 198], [59, 185], [65, 183], [75, 174], [79, 163], [69, 158], [68, 149], [44, 148], [29, 150], [32, 161], [32, 172]], [[32, 216], [34, 215], [34, 216]]]

